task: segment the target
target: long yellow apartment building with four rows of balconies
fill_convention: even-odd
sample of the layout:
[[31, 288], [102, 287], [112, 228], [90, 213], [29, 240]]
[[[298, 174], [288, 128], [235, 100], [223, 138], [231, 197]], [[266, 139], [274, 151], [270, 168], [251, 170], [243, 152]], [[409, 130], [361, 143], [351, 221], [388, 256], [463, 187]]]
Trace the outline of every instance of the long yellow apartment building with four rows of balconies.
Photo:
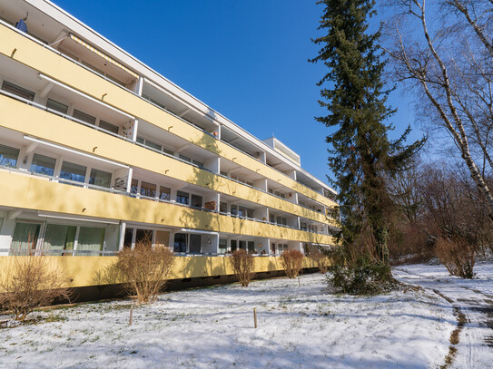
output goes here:
[[334, 194], [53, 3], [0, 0], [0, 267], [35, 251], [89, 286], [150, 239], [174, 278], [231, 274], [236, 248], [277, 270], [285, 249], [334, 243]]

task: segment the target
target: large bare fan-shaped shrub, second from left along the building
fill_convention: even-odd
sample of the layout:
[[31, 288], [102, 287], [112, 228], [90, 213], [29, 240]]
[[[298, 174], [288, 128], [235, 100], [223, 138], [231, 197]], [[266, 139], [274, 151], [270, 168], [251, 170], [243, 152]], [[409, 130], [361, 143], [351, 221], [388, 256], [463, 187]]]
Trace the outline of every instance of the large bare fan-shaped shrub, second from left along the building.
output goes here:
[[143, 240], [133, 249], [123, 248], [118, 253], [115, 267], [138, 303], [152, 303], [166, 286], [173, 261], [173, 252], [169, 248], [153, 248], [149, 240]]

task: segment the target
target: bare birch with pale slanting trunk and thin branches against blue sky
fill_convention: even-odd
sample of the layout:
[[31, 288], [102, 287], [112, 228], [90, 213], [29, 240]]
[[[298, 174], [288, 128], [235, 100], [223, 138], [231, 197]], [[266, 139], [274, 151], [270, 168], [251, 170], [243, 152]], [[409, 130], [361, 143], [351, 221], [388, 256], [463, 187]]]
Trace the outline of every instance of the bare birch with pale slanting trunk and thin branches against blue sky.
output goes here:
[[[439, 0], [429, 26], [426, 0], [389, 0], [398, 14], [386, 24], [397, 80], [422, 93], [429, 120], [449, 133], [468, 172], [488, 204], [493, 195], [486, 180], [493, 161], [493, 73], [488, 20], [491, 0]], [[483, 164], [478, 164], [479, 161]]]

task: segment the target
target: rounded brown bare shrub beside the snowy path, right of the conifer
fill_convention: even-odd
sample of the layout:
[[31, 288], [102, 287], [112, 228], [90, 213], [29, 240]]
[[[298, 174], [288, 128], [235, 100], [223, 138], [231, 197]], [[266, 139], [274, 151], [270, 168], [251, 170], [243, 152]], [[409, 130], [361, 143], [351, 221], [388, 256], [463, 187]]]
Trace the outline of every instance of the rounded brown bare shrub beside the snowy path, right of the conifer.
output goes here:
[[435, 251], [440, 262], [447, 267], [452, 276], [462, 278], [474, 277], [474, 264], [478, 249], [465, 239], [439, 238]]

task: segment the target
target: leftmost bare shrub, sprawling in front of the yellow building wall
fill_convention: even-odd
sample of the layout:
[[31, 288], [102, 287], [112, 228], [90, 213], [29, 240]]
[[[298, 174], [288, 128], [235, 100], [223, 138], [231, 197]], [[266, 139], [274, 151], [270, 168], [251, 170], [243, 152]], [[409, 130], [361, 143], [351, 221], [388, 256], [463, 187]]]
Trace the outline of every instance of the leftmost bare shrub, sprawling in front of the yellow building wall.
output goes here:
[[70, 278], [46, 257], [12, 257], [0, 275], [0, 306], [23, 322], [36, 307], [50, 305], [56, 299], [70, 301], [69, 283]]

